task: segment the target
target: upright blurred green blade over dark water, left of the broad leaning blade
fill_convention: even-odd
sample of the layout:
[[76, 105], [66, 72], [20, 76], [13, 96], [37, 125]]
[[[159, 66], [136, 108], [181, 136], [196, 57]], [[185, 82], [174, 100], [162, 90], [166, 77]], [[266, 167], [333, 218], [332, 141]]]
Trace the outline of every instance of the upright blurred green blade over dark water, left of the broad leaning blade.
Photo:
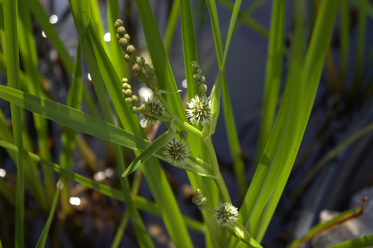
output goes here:
[[268, 42], [266, 76], [261, 124], [257, 145], [256, 165], [263, 155], [275, 120], [285, 46], [285, 1], [273, 1]]

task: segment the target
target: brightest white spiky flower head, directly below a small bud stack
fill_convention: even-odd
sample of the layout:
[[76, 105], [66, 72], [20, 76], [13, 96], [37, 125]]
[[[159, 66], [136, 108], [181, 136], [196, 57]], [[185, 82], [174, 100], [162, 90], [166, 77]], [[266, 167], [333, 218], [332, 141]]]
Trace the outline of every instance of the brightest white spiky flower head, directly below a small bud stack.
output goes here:
[[189, 109], [185, 109], [187, 114], [186, 116], [189, 117], [189, 122], [191, 124], [199, 124], [202, 123], [204, 126], [206, 123], [209, 124], [212, 119], [211, 113], [211, 100], [210, 96], [195, 96], [190, 100], [188, 103]]

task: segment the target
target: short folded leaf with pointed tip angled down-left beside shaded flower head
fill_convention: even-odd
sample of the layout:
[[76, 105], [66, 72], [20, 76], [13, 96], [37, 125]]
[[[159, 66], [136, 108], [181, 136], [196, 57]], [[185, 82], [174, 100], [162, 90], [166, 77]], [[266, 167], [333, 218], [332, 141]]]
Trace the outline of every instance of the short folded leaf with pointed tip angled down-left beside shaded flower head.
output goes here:
[[140, 167], [142, 163], [145, 162], [151, 155], [153, 155], [157, 150], [163, 147], [165, 144], [169, 143], [176, 135], [176, 123], [171, 122], [170, 128], [163, 134], [161, 134], [157, 139], [150, 143], [150, 145], [138, 156], [131, 165], [128, 166], [125, 172], [123, 172], [122, 177], [126, 177], [137, 168]]

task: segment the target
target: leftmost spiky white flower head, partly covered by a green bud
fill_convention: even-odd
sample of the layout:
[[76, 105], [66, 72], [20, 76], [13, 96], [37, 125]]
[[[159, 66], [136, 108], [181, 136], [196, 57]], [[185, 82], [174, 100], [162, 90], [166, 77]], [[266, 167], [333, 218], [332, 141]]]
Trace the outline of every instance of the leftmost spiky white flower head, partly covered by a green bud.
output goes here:
[[[151, 100], [149, 98], [147, 100], [142, 100], [141, 104], [144, 106], [147, 105], [150, 107], [150, 112], [147, 111], [147, 113], [167, 117], [167, 111], [164, 108], [162, 102], [160, 102], [158, 98], [153, 97]], [[140, 107], [140, 115], [139, 115], [140, 122], [142, 121], [146, 125], [153, 125], [153, 126], [158, 125], [159, 120], [156, 117], [148, 116], [146, 113], [141, 113], [142, 105]]]

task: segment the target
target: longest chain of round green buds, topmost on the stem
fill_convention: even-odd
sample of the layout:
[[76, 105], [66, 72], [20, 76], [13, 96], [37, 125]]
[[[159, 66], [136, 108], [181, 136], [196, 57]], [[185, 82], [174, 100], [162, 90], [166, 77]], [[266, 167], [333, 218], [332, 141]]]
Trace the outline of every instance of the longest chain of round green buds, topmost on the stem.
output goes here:
[[123, 21], [118, 19], [114, 25], [117, 29], [116, 38], [123, 52], [125, 52], [124, 60], [127, 63], [133, 64], [132, 71], [136, 74], [137, 79], [141, 83], [145, 83], [149, 89], [155, 89], [157, 86], [156, 80], [154, 79], [156, 72], [149, 64], [145, 64], [145, 59], [143, 57], [133, 55], [135, 53], [135, 47], [129, 44], [130, 37], [128, 34], [125, 34], [126, 29], [122, 26]]

